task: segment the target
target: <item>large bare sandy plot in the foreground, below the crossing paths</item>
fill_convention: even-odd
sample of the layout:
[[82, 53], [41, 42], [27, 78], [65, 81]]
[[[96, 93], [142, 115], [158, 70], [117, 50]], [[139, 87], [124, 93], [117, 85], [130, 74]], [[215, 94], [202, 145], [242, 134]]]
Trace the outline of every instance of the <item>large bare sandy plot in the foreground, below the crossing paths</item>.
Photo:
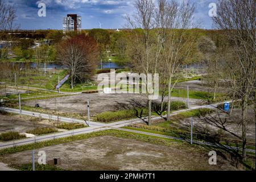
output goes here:
[[[180, 149], [175, 144], [167, 147], [109, 136], [44, 147], [40, 151], [46, 152], [47, 161], [58, 158], [60, 168], [75, 171], [236, 170], [218, 156], [217, 166], [210, 166], [208, 152]], [[31, 163], [31, 151], [3, 156], [0, 160], [6, 164], [28, 164]]]

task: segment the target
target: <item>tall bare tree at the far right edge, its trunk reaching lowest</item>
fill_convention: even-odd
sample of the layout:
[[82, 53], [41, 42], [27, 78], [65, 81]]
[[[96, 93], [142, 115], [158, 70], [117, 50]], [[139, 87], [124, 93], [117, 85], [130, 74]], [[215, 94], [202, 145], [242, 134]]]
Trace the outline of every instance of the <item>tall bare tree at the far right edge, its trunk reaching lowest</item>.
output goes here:
[[[231, 44], [233, 65], [229, 72], [236, 77], [233, 90], [242, 101], [242, 157], [246, 158], [247, 107], [250, 96], [255, 94], [255, 53], [256, 53], [256, 2], [255, 0], [219, 0], [217, 28], [225, 30]], [[256, 125], [256, 123], [255, 123]]]

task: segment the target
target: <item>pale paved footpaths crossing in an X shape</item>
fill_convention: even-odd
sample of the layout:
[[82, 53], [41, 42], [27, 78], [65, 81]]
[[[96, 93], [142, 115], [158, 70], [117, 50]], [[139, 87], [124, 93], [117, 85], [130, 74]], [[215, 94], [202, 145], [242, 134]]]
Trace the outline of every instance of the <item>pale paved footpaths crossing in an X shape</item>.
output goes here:
[[[204, 105], [204, 106], [194, 106], [194, 107], [191, 107], [189, 109], [174, 111], [174, 112], [172, 112], [171, 115], [176, 115], [176, 114], [179, 114], [181, 112], [194, 110], [194, 109], [202, 109], [202, 108], [214, 109], [214, 108], [216, 108], [216, 106], [218, 106], [220, 104], [222, 104], [222, 103], [213, 104], [213, 105]], [[13, 108], [9, 108], [9, 107], [0, 107], [0, 110], [7, 111], [9, 113], [20, 114], [19, 109], [13, 109]], [[176, 137], [170, 137], [170, 136], [166, 136], [166, 135], [152, 134], [152, 133], [147, 133], [147, 132], [143, 132], [143, 131], [121, 129], [121, 127], [128, 126], [128, 125], [131, 125], [131, 124], [134, 124], [134, 123], [146, 122], [147, 121], [146, 117], [142, 118], [142, 119], [141, 118], [135, 118], [135, 119], [129, 119], [129, 120], [125, 120], [125, 121], [119, 121], [119, 122], [113, 122], [113, 123], [105, 124], [105, 123], [98, 123], [98, 122], [82, 121], [80, 119], [58, 117], [56, 115], [35, 113], [35, 112], [32, 112], [32, 111], [26, 111], [26, 110], [22, 110], [21, 114], [32, 116], [32, 117], [42, 117], [44, 119], [51, 119], [51, 120], [55, 120], [55, 121], [57, 121], [59, 119], [59, 121], [67, 122], [67, 123], [72, 123], [72, 122], [85, 123], [86, 125], [89, 125], [89, 127], [86, 127], [84, 129], [76, 129], [76, 130], [73, 130], [73, 131], [64, 131], [64, 132], [61, 132], [61, 133], [37, 136], [37, 137], [33, 137], [33, 138], [26, 138], [26, 139], [20, 139], [20, 140], [15, 140], [15, 141], [10, 141], [10, 142], [3, 142], [3, 143], [0, 143], [0, 149], [10, 148], [10, 147], [14, 147], [14, 146], [22, 146], [22, 145], [25, 145], [25, 144], [31, 144], [31, 143], [35, 143], [35, 142], [43, 142], [43, 141], [46, 141], [46, 140], [53, 140], [53, 139], [57, 139], [57, 138], [72, 137], [74, 135], [88, 134], [88, 133], [93, 133], [93, 132], [103, 131], [103, 130], [110, 130], [110, 129], [127, 131], [127, 132], [130, 132], [130, 133], [145, 134], [145, 135], [150, 135], [150, 136], [154, 136], [154, 137], [180, 140], [180, 141], [184, 141], [184, 142], [190, 142], [190, 140], [188, 141], [187, 139], [183, 139], [183, 138], [176, 138]], [[166, 117], [166, 115], [161, 116], [161, 117], [153, 116], [152, 120], [154, 121], [154, 120], [157, 120], [157, 119], [162, 119], [164, 117]], [[219, 145], [214, 144], [214, 143], [201, 142], [201, 141], [197, 141], [197, 140], [195, 140], [194, 143], [203, 144], [203, 145], [207, 145], [207, 146], [214, 146], [214, 147], [225, 147], [225, 148], [228, 148], [228, 149], [231, 149], [231, 150], [241, 150], [241, 148], [238, 148], [238, 147], [219, 146]], [[250, 149], [247, 149], [247, 151], [248, 152], [255, 152], [255, 150], [250, 150]]]

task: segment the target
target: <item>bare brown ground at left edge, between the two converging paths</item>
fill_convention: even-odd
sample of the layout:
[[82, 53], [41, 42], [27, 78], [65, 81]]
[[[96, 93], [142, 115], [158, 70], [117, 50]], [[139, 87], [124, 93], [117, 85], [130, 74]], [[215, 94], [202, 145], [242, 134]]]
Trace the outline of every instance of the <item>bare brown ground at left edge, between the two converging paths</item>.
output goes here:
[[[0, 133], [6, 131], [18, 131], [24, 133], [27, 130], [34, 129], [36, 127], [50, 126], [47, 120], [42, 120], [35, 125], [35, 122], [31, 122], [32, 117], [26, 115], [14, 115], [14, 114], [0, 114]], [[14, 130], [13, 130], [14, 129]]]

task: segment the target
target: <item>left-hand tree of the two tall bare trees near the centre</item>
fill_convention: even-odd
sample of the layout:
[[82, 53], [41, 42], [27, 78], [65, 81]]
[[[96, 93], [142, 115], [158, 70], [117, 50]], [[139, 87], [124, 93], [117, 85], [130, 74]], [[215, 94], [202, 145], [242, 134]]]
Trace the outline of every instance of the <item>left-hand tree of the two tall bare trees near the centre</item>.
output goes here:
[[[154, 28], [154, 9], [153, 0], [136, 0], [134, 3], [136, 14], [132, 17], [126, 17], [129, 26], [134, 28], [133, 36], [130, 38], [131, 58], [134, 61], [134, 69], [139, 73], [156, 73], [155, 69], [155, 44], [151, 29]], [[138, 28], [141, 28], [140, 30]], [[143, 83], [148, 88], [148, 82]], [[151, 104], [147, 90], [148, 98], [148, 125], [151, 125]]]

